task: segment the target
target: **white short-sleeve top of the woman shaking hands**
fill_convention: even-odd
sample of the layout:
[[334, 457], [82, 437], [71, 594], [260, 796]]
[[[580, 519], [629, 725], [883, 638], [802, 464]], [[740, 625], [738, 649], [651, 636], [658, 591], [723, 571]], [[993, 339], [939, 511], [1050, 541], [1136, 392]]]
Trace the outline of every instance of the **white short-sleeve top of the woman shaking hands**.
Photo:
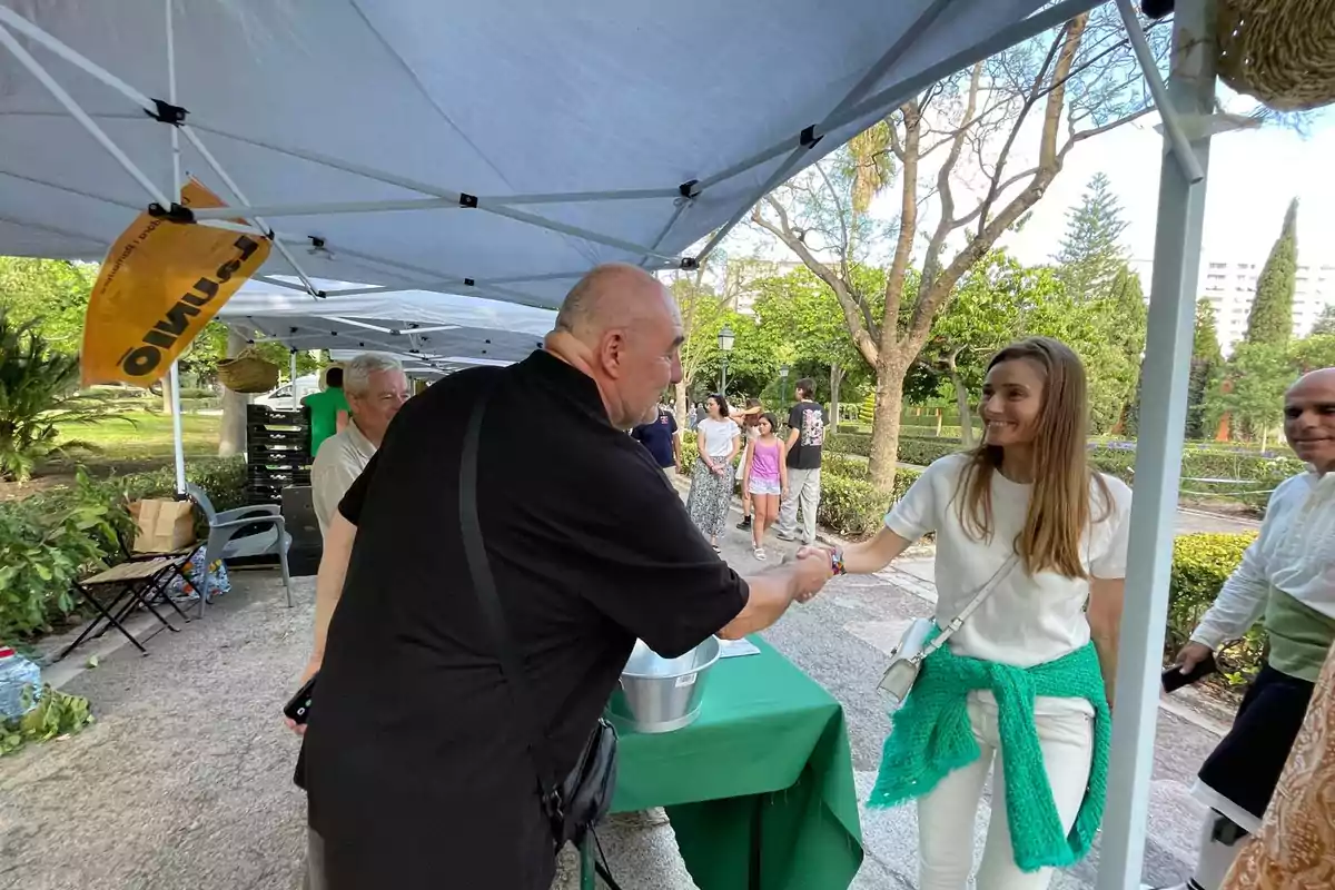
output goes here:
[[[968, 462], [963, 454], [934, 462], [885, 516], [885, 526], [909, 540], [936, 532], [936, 620], [941, 626], [953, 620], [1005, 564], [1029, 508], [1032, 486], [993, 472], [991, 542], [971, 538], [955, 503]], [[1104, 504], [1091, 483], [1092, 527], [1081, 543], [1083, 564], [1095, 578], [1125, 578], [1131, 488], [1112, 476], [1104, 476], [1104, 482], [1112, 504]], [[1029, 575], [1016, 562], [951, 638], [951, 651], [1016, 667], [1055, 660], [1089, 642], [1084, 611], [1088, 599], [1088, 579], [1055, 571]]]

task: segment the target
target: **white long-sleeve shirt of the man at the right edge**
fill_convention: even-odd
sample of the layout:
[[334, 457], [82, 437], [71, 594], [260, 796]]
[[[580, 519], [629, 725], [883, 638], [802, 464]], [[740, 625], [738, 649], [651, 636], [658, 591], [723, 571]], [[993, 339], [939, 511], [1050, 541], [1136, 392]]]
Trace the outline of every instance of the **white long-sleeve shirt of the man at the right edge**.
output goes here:
[[1260, 535], [1219, 591], [1192, 642], [1238, 639], [1264, 614], [1271, 587], [1335, 618], [1335, 472], [1286, 479], [1270, 496]]

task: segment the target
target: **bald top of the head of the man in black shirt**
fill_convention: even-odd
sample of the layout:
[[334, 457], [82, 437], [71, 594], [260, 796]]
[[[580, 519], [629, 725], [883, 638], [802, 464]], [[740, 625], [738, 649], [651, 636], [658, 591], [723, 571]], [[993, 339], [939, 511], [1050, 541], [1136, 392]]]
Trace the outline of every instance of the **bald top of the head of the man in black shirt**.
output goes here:
[[609, 328], [630, 328], [665, 312], [676, 316], [677, 304], [658, 279], [638, 266], [606, 263], [566, 294], [557, 330], [587, 343]]

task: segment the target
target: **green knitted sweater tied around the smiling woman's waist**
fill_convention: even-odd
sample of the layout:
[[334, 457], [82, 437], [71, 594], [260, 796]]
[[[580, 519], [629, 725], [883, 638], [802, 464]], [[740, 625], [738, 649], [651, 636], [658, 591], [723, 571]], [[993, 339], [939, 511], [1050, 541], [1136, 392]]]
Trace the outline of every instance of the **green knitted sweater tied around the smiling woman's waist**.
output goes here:
[[[1084, 858], [1103, 822], [1112, 714], [1093, 644], [1029, 669], [955, 655], [943, 646], [922, 662], [917, 683], [893, 715], [870, 806], [922, 797], [953, 770], [980, 755], [968, 695], [989, 690], [997, 701], [1005, 811], [1015, 862], [1024, 871], [1071, 866]], [[1083, 698], [1095, 709], [1093, 761], [1080, 814], [1061, 830], [1033, 723], [1037, 697]]]

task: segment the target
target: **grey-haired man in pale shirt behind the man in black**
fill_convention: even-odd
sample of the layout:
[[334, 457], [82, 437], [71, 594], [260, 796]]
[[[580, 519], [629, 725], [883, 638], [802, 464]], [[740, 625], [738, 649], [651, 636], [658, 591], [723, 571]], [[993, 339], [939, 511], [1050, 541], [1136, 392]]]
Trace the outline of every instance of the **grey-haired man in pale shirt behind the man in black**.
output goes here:
[[390, 356], [363, 352], [343, 368], [343, 394], [352, 418], [342, 432], [320, 443], [311, 466], [311, 499], [320, 535], [328, 534], [338, 502], [366, 470], [390, 420], [409, 400], [409, 379], [403, 366]]

